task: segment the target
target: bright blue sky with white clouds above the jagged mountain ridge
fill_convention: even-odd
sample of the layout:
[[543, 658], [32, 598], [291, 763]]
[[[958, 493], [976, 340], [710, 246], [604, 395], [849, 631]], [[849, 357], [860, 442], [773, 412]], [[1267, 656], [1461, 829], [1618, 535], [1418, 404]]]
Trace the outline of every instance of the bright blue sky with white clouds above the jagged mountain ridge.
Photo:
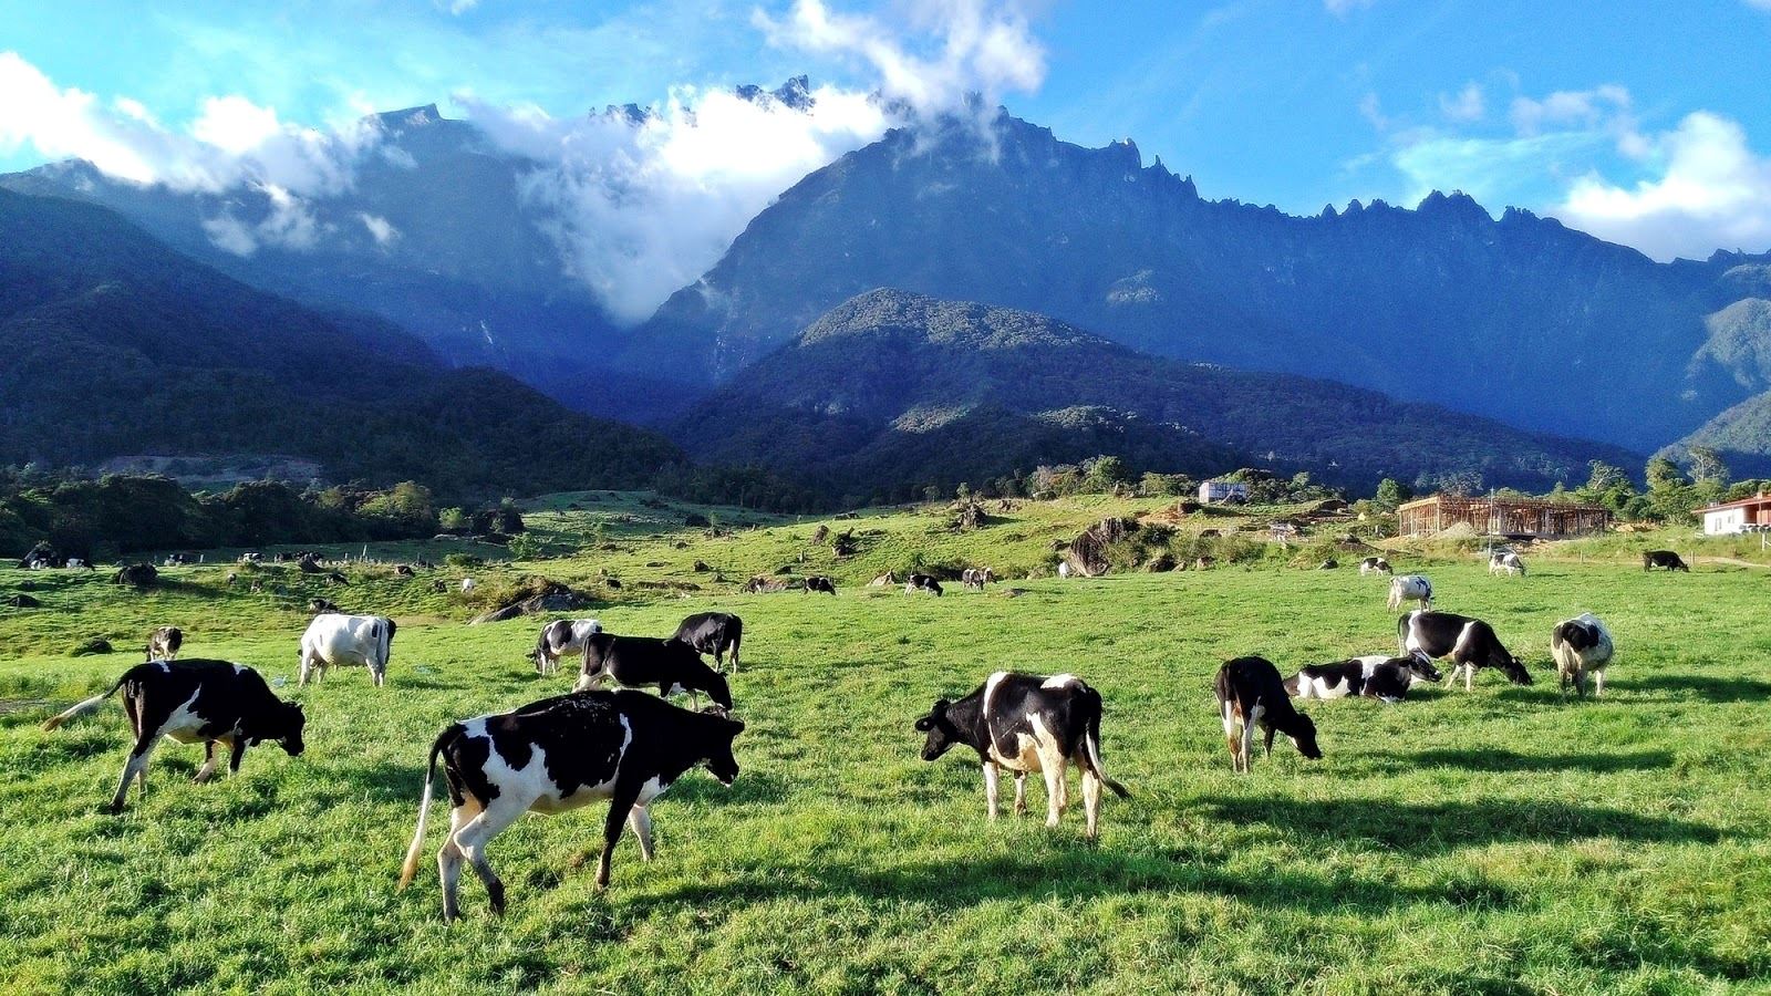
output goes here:
[[[0, 0], [0, 53], [9, 170], [193, 129], [225, 147], [266, 112], [568, 119], [793, 73], [891, 89], [909, 67], [935, 103], [983, 89], [1071, 142], [1130, 136], [1208, 197], [1314, 213], [1461, 188], [1661, 259], [1771, 248], [1771, 0]], [[158, 131], [81, 133], [81, 113]]]

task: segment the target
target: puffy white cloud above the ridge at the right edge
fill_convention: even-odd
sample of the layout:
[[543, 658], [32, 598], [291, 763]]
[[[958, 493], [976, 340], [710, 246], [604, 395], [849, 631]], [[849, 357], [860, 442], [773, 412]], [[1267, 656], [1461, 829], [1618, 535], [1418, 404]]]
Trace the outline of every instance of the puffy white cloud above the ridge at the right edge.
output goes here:
[[1711, 112], [1643, 138], [1656, 174], [1617, 184], [1582, 175], [1557, 206], [1571, 225], [1656, 259], [1714, 248], [1771, 248], [1771, 160], [1753, 154], [1739, 122]]

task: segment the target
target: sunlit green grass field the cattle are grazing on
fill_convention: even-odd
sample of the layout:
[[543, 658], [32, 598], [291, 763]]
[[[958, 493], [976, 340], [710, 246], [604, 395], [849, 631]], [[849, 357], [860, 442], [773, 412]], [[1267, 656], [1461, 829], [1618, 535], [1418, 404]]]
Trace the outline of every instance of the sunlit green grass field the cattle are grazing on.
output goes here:
[[[731, 789], [685, 776], [653, 806], [659, 858], [643, 865], [623, 838], [604, 893], [602, 806], [521, 821], [489, 849], [510, 913], [491, 916], [466, 875], [453, 927], [429, 860], [395, 891], [425, 751], [450, 720], [565, 689], [524, 659], [540, 620], [464, 626], [475, 606], [430, 590], [464, 571], [352, 571], [328, 595], [400, 620], [388, 686], [345, 670], [298, 691], [308, 588], [227, 590], [221, 565], [147, 594], [0, 571], [0, 592], [30, 581], [46, 603], [0, 610], [0, 991], [1771, 991], [1771, 571], [1642, 574], [1636, 537], [1534, 556], [1525, 580], [1468, 555], [1399, 556], [1433, 576], [1440, 608], [1491, 620], [1537, 684], [1484, 672], [1470, 695], [1311, 704], [1326, 757], [1280, 739], [1252, 776], [1229, 771], [1213, 672], [1249, 652], [1286, 668], [1394, 649], [1381, 580], [1273, 558], [944, 599], [859, 585], [909, 560], [1038, 574], [1052, 539], [1126, 505], [1027, 503], [969, 533], [932, 510], [864, 514], [829, 523], [862, 541], [834, 562], [809, 542], [815, 521], [707, 537], [622, 496], [537, 503], [551, 549], [595, 548], [466, 574], [597, 592], [622, 578], [625, 601], [588, 613], [616, 633], [742, 613], [744, 773]], [[730, 516], [715, 521], [746, 525]], [[841, 594], [735, 594], [790, 564]], [[1585, 610], [1619, 656], [1603, 702], [1564, 705], [1548, 634]], [[202, 751], [165, 744], [147, 799], [104, 815], [122, 711], [39, 725], [108, 688], [138, 659], [122, 647], [161, 622], [186, 629], [184, 656], [285, 679], [308, 751], [266, 744], [239, 778], [191, 785]], [[96, 634], [120, 652], [66, 656]], [[999, 668], [1077, 672], [1105, 696], [1107, 769], [1135, 798], [1103, 803], [1096, 847], [1080, 806], [1041, 826], [1036, 778], [1031, 813], [992, 826], [974, 764], [919, 760], [916, 716]]]

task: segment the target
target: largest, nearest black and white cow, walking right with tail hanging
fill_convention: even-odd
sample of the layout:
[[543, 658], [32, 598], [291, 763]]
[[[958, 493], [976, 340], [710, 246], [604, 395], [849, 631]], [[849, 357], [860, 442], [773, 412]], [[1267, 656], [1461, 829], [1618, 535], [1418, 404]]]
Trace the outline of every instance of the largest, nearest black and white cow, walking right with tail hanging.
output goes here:
[[641, 691], [581, 691], [452, 723], [430, 744], [418, 829], [406, 851], [400, 888], [418, 874], [437, 757], [453, 806], [448, 836], [437, 851], [437, 877], [443, 920], [455, 920], [462, 860], [485, 883], [492, 913], [505, 911], [505, 884], [492, 872], [485, 845], [528, 812], [551, 815], [609, 801], [597, 888], [609, 884], [623, 822], [639, 838], [639, 856], [650, 861], [652, 801], [696, 766], [731, 785], [739, 776], [731, 741], [740, 732], [744, 723], [717, 709], [689, 712]]

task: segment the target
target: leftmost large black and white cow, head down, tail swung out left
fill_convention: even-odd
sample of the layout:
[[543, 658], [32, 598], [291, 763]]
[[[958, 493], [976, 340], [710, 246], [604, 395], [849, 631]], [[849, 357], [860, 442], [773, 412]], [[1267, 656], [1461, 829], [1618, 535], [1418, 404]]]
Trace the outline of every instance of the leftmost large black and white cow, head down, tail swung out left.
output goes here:
[[202, 741], [204, 766], [195, 782], [209, 782], [216, 773], [216, 744], [228, 748], [228, 773], [239, 774], [246, 748], [260, 741], [276, 741], [289, 757], [301, 753], [301, 730], [306, 716], [301, 705], [282, 702], [264, 684], [264, 677], [246, 665], [230, 661], [147, 661], [117, 679], [103, 695], [94, 695], [67, 712], [43, 725], [53, 730], [69, 720], [85, 716], [106, 698], [122, 689], [122, 711], [135, 730], [135, 748], [122, 767], [112, 812], [122, 810], [129, 780], [147, 794], [147, 757], [161, 737], [182, 744]]

